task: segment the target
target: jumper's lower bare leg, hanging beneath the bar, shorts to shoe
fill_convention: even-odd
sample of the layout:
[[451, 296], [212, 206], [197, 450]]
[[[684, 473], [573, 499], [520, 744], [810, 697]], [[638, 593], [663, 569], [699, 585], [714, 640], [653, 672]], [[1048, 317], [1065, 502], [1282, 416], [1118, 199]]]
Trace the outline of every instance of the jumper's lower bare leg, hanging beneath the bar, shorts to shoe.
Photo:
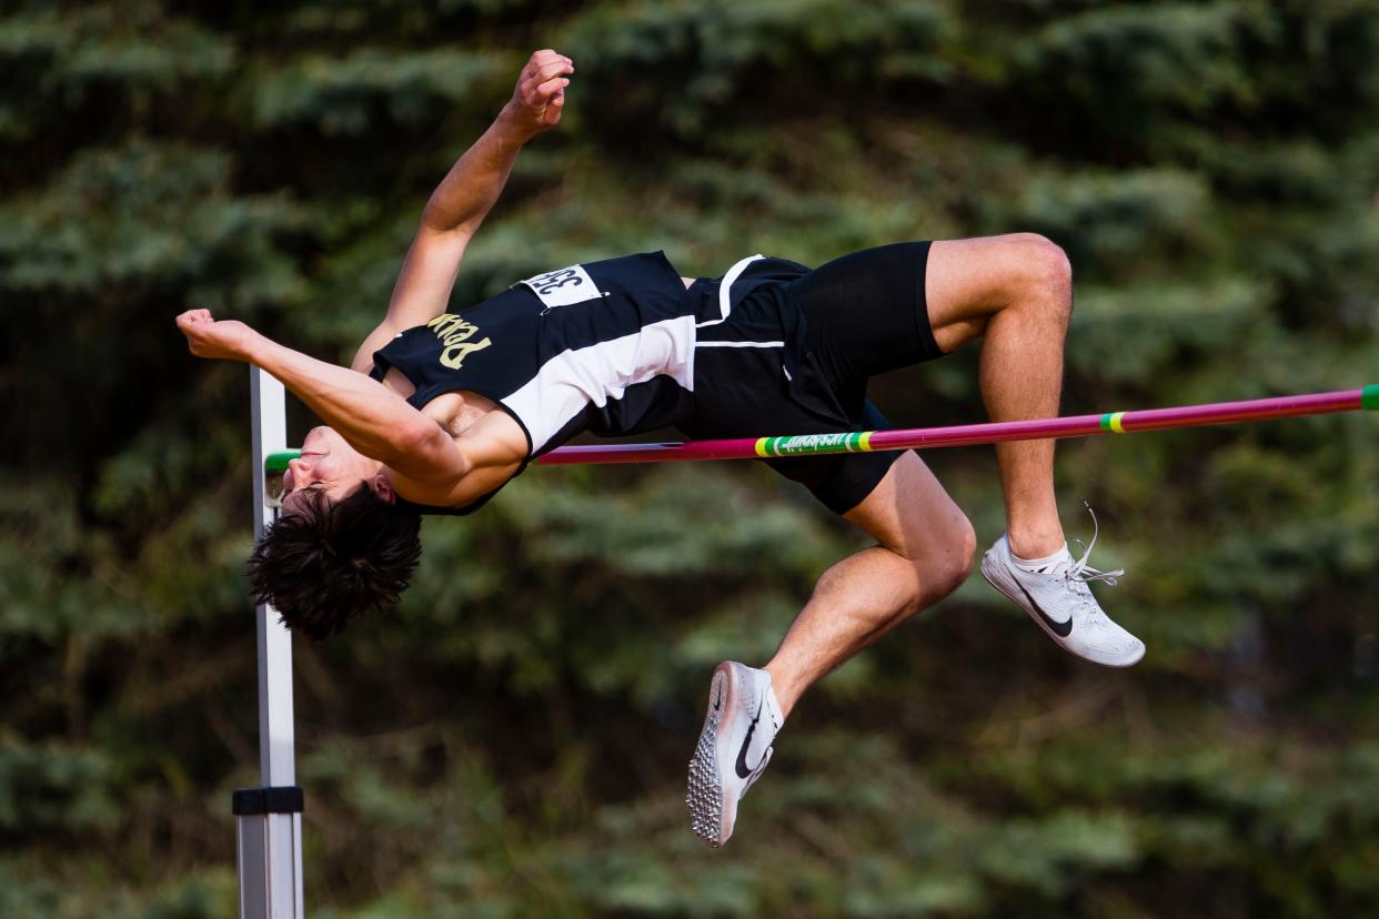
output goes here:
[[816, 679], [967, 580], [976, 536], [934, 473], [905, 453], [844, 518], [877, 546], [819, 579], [767, 670], [789, 715]]

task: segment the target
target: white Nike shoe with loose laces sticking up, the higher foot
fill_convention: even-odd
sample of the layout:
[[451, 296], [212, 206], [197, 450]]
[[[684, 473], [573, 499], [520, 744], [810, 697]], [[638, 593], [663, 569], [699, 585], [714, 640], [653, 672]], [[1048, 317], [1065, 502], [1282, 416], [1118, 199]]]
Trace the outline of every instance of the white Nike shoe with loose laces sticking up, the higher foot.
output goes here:
[[[1091, 508], [1088, 508], [1091, 511]], [[1096, 515], [1092, 514], [1092, 525]], [[1078, 540], [1080, 541], [1080, 540]], [[1131, 667], [1145, 656], [1145, 642], [1117, 626], [1092, 597], [1088, 581], [1116, 584], [1124, 569], [1099, 572], [1087, 564], [1096, 544], [1073, 561], [1065, 550], [1047, 569], [1029, 572], [1015, 564], [1005, 533], [982, 557], [982, 575], [992, 587], [1014, 599], [1060, 648], [1103, 667]]]

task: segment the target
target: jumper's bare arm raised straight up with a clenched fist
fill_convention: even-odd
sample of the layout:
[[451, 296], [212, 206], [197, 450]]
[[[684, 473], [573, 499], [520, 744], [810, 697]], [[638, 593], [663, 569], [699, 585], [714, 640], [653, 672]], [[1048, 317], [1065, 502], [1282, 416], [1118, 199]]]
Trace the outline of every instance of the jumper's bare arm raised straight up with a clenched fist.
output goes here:
[[560, 121], [574, 72], [570, 58], [549, 48], [527, 61], [513, 98], [426, 203], [397, 276], [387, 317], [364, 339], [350, 364], [353, 369], [367, 373], [374, 351], [389, 339], [445, 311], [469, 240], [498, 201], [523, 145]]

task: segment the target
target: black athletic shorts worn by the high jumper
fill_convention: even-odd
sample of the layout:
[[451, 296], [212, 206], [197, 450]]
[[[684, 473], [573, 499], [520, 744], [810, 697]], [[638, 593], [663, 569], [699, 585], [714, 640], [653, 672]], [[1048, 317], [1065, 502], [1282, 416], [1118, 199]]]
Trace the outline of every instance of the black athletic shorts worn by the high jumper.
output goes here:
[[[696, 435], [833, 434], [888, 427], [867, 402], [867, 380], [942, 357], [924, 296], [928, 254], [928, 242], [883, 245], [752, 289], [734, 307], [734, 321], [741, 316], [742, 327], [725, 335], [741, 336], [746, 329], [749, 336], [769, 338], [764, 324], [756, 335], [750, 332], [756, 317], [803, 317], [796, 343], [803, 358], [797, 379], [785, 387], [789, 397], [767, 383], [769, 378], [758, 378], [750, 389], [736, 387], [731, 401], [713, 400], [713, 416]], [[732, 360], [735, 366], [721, 372], [735, 376], [745, 375], [745, 362], [753, 358], [763, 365], [760, 373], [771, 372], [769, 361], [756, 349], [707, 349], [696, 355], [706, 372], [717, 369], [710, 361]], [[779, 364], [775, 366], [779, 373]], [[745, 382], [745, 376], [738, 379]], [[809, 411], [809, 405], [823, 408]], [[807, 486], [841, 515], [872, 493], [899, 456], [840, 453], [763, 462]]]

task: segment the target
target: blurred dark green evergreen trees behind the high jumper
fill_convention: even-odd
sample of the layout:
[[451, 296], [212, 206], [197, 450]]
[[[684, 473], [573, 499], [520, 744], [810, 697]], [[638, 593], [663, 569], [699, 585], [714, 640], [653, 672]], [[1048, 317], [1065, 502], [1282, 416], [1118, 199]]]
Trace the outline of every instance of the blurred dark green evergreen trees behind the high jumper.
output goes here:
[[[565, 118], [456, 304], [626, 251], [1036, 230], [1077, 274], [1065, 412], [1379, 382], [1371, 0], [4, 8], [4, 916], [233, 915], [248, 375], [172, 317], [348, 358], [534, 48], [576, 62]], [[980, 420], [974, 366], [873, 395]], [[1145, 663], [1077, 663], [972, 579], [805, 699], [723, 851], [681, 802], [709, 674], [860, 539], [750, 463], [532, 470], [426, 524], [397, 615], [298, 643], [309, 909], [1375, 915], [1375, 424], [1066, 444]], [[987, 544], [990, 449], [928, 459]]]

